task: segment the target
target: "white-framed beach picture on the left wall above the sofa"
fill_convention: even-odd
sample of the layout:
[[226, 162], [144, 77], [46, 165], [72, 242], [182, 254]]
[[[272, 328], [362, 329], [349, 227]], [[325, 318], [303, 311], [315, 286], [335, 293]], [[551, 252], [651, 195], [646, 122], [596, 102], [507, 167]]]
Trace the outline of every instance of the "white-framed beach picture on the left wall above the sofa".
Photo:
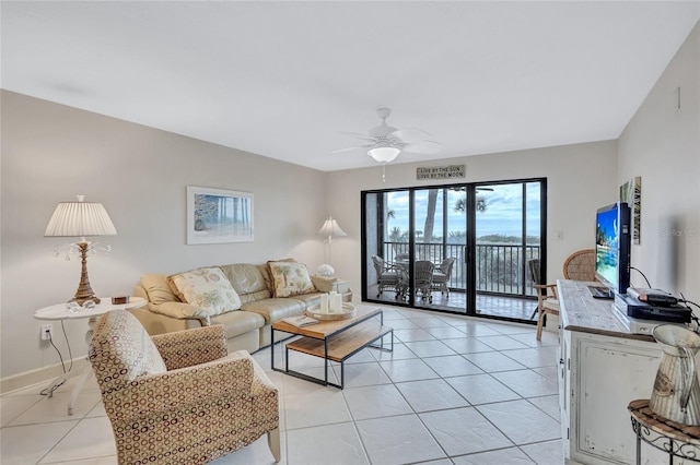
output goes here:
[[187, 245], [252, 242], [253, 194], [187, 187]]

